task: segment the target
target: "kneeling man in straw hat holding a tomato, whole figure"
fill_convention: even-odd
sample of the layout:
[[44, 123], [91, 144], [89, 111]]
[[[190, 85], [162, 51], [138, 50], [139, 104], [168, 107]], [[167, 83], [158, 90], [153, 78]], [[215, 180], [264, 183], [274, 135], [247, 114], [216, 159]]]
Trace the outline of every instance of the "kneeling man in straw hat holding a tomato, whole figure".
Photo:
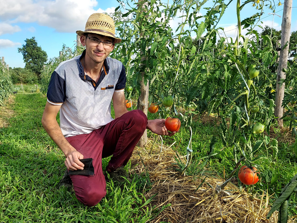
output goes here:
[[[70, 178], [78, 200], [94, 206], [106, 195], [102, 158], [112, 156], [106, 171], [116, 179], [124, 174], [123, 167], [146, 128], [159, 135], [172, 136], [175, 132], [168, 133], [164, 119], [147, 120], [140, 110], [127, 111], [124, 66], [108, 57], [114, 44], [121, 42], [115, 37], [113, 19], [102, 13], [92, 14], [85, 31], [76, 33], [86, 50], [62, 62], [53, 72], [42, 125], [65, 154], [65, 165], [68, 171], [74, 171], [72, 174], [84, 169], [81, 159], [93, 159], [94, 175]], [[59, 111], [60, 127], [56, 121]]]

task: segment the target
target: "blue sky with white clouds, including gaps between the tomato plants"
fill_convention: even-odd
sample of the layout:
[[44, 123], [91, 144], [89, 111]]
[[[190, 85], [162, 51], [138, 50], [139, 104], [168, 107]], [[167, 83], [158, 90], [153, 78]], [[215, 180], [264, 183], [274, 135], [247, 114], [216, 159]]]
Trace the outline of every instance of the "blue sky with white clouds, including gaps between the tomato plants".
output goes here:
[[[130, 4], [134, 0], [127, 0]], [[124, 2], [127, 2], [124, 0]], [[164, 2], [163, 0], [161, 0]], [[167, 1], [165, 1], [167, 2]], [[283, 0], [281, 0], [283, 4]], [[208, 1], [205, 7], [210, 7]], [[275, 1], [278, 4], [278, 0]], [[291, 32], [297, 30], [297, 4], [293, 1]], [[116, 0], [0, 0], [0, 58], [4, 56], [10, 67], [24, 67], [23, 55], [18, 53], [18, 47], [25, 44], [25, 40], [35, 37], [38, 45], [46, 51], [48, 59], [59, 56], [63, 44], [74, 48], [76, 45], [76, 31], [84, 30], [89, 15], [95, 12], [112, 13], [119, 6]], [[123, 7], [121, 7], [123, 11]], [[273, 28], [280, 30], [282, 23], [283, 5], [276, 7]], [[204, 15], [206, 10], [200, 10]], [[241, 20], [255, 14], [257, 10], [252, 3], [247, 4], [241, 11]], [[273, 15], [265, 8], [261, 26], [271, 27]], [[182, 15], [179, 12], [178, 15]], [[170, 21], [173, 30], [176, 29], [181, 18]], [[236, 1], [226, 9], [219, 26], [223, 27], [228, 37], [236, 35]], [[257, 28], [261, 32], [260, 28]], [[246, 32], [243, 32], [245, 34]], [[193, 36], [195, 37], [195, 36]]]

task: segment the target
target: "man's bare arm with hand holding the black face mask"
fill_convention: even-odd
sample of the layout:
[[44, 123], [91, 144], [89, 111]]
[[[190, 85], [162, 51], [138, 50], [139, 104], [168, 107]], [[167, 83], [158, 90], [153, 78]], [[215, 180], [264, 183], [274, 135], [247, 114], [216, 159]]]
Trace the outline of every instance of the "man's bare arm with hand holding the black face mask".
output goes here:
[[66, 156], [65, 165], [69, 170], [83, 169], [83, 163], [79, 159], [83, 159], [83, 155], [76, 151], [72, 145], [65, 139], [61, 128], [56, 120], [56, 116], [61, 108], [61, 105], [53, 105], [46, 102], [45, 109], [42, 115], [41, 123], [48, 133], [50, 138], [59, 146]]

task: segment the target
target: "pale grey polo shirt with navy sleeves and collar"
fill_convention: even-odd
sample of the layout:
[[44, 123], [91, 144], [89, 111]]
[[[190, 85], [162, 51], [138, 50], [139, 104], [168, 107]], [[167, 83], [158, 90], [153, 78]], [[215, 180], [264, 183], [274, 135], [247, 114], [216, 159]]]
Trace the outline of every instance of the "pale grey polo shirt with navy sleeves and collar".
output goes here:
[[124, 91], [124, 65], [110, 57], [104, 60], [97, 83], [83, 70], [82, 55], [64, 61], [54, 70], [48, 85], [47, 101], [61, 105], [60, 128], [65, 137], [89, 134], [108, 123], [114, 92]]

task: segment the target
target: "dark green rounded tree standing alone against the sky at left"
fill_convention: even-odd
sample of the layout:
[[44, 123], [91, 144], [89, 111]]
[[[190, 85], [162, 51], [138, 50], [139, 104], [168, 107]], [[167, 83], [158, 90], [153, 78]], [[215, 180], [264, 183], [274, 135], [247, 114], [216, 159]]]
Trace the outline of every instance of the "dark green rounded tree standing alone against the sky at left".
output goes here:
[[26, 39], [25, 42], [26, 44], [22, 48], [18, 48], [18, 52], [23, 54], [23, 60], [26, 63], [25, 68], [35, 72], [39, 77], [48, 55], [37, 45], [35, 37]]

